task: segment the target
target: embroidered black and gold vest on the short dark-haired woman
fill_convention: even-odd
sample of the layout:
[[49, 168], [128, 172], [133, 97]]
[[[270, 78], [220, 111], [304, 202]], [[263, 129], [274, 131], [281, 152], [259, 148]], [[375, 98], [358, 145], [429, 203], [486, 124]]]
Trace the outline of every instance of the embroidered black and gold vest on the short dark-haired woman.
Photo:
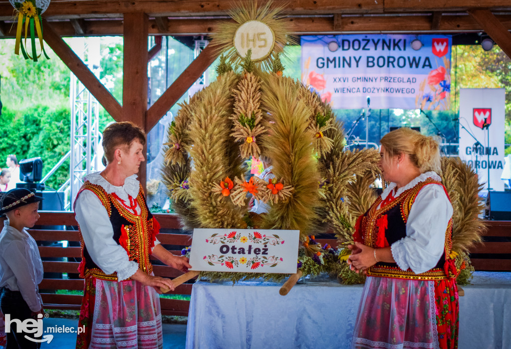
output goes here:
[[[149, 255], [152, 247], [154, 247], [154, 240], [159, 230], [159, 225], [153, 220], [153, 216], [151, 212], [149, 212], [142, 186], [140, 186], [136, 197], [136, 202], [141, 208], [140, 214], [134, 214], [129, 211], [100, 185], [85, 181], [78, 195], [84, 190], [90, 190], [92, 193], [96, 194], [106, 208], [113, 228], [113, 240], [118, 245], [124, 247], [128, 253], [129, 260], [138, 263], [138, 269], [146, 274], [150, 274], [153, 270], [153, 266]], [[153, 227], [153, 225], [155, 225], [155, 227]], [[80, 230], [80, 226], [78, 229]], [[80, 277], [95, 277], [103, 280], [118, 281], [117, 272], [107, 275], [92, 260], [83, 241], [81, 230], [80, 243], [82, 246], [82, 261], [78, 269], [80, 271]], [[129, 278], [127, 280], [131, 279]]]

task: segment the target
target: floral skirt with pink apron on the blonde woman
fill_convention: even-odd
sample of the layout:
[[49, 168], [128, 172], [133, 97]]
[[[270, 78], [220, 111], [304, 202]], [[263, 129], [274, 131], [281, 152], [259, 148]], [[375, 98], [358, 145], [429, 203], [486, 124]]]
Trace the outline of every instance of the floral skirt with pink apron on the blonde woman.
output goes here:
[[367, 277], [352, 346], [457, 348], [458, 309], [454, 280]]

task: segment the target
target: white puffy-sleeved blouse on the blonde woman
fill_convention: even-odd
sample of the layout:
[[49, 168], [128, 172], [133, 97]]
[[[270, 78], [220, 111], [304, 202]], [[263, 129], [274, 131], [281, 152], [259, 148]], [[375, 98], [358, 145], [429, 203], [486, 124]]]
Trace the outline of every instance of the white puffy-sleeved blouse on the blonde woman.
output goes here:
[[[435, 172], [426, 172], [399, 188], [393, 196], [398, 198], [428, 178], [442, 180]], [[390, 183], [382, 193], [382, 200], [394, 193], [395, 188], [396, 183]], [[415, 274], [421, 274], [438, 263], [444, 253], [445, 233], [452, 212], [452, 205], [441, 185], [431, 183], [421, 189], [408, 214], [406, 237], [390, 247], [392, 257], [402, 270], [410, 268]]]

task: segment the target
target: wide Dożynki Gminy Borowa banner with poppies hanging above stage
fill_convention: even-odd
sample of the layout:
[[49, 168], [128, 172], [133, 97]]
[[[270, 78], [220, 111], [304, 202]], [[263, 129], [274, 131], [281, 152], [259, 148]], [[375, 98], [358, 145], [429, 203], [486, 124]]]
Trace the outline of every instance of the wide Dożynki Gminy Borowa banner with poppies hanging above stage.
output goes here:
[[373, 109], [451, 108], [450, 35], [302, 36], [300, 41], [301, 80], [334, 109], [365, 108], [369, 99]]

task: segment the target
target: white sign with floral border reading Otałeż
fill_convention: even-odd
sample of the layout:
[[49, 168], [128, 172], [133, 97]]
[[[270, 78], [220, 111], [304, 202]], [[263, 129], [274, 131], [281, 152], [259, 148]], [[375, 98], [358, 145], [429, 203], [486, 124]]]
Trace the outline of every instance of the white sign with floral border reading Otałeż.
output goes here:
[[194, 229], [190, 264], [206, 272], [295, 274], [299, 230]]

